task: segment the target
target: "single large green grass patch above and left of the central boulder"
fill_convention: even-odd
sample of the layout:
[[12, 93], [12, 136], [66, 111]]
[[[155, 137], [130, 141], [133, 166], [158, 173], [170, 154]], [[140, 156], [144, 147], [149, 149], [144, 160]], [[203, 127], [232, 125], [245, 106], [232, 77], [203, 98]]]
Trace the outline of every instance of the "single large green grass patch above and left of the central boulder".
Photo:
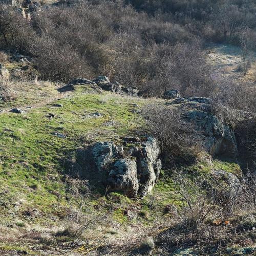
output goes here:
[[[103, 98], [103, 100], [102, 100]], [[88, 94], [79, 88], [72, 96], [31, 109], [26, 114], [0, 115], [0, 208], [36, 207], [45, 214], [54, 212], [56, 205], [66, 204], [63, 158], [72, 155], [83, 143], [98, 140], [119, 141], [127, 134], [143, 129], [143, 119], [132, 113], [132, 103], [143, 104], [142, 99], [105, 93]], [[90, 113], [100, 112], [102, 118]], [[48, 113], [55, 117], [49, 119]], [[114, 120], [115, 127], [104, 123]], [[59, 138], [60, 133], [66, 138]], [[2, 196], [3, 195], [3, 196]]]

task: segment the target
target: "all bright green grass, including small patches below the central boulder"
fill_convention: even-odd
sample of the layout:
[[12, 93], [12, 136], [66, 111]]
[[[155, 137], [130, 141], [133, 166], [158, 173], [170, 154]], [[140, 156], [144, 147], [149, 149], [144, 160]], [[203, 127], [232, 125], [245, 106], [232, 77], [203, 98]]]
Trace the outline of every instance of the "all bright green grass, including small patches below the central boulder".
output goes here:
[[[45, 84], [42, 89], [46, 98], [48, 93], [51, 94], [52, 86]], [[33, 89], [30, 84], [29, 90], [25, 91], [29, 91], [27, 97], [17, 98], [11, 104], [26, 105], [30, 102], [38, 102], [40, 96], [36, 93], [37, 87]], [[46, 98], [43, 97], [41, 100]], [[11, 221], [12, 216], [23, 220], [27, 211], [36, 208], [40, 212], [42, 221], [45, 220], [48, 224], [54, 223], [54, 219], [49, 221], [49, 216], [65, 215], [65, 207], [69, 204], [67, 184], [62, 181], [62, 175], [66, 171], [63, 160], [74, 157], [76, 150], [86, 144], [96, 141], [119, 143], [123, 136], [144, 135], [146, 132], [144, 119], [133, 112], [136, 109], [133, 103], [138, 104], [141, 109], [146, 104], [160, 101], [107, 92], [97, 94], [90, 91], [90, 88], [78, 87], [74, 92], [70, 92], [68, 97], [53, 100], [45, 105], [41, 104], [42, 106], [32, 108], [26, 114], [9, 112], [0, 114], [1, 215], [5, 215], [6, 221]], [[63, 106], [57, 108], [53, 106], [55, 103]], [[94, 112], [102, 113], [103, 117], [90, 116]], [[54, 114], [54, 118], [49, 119], [47, 117], [49, 113]], [[104, 125], [108, 121], [115, 121], [116, 125]], [[57, 137], [53, 133], [64, 135], [65, 138]], [[215, 160], [212, 165], [202, 162], [188, 166], [184, 170], [189, 177], [193, 177], [207, 175], [212, 168], [224, 169], [231, 173], [240, 172], [237, 164], [219, 160]], [[141, 206], [140, 217], [147, 225], [146, 222], [154, 222], [158, 211], [162, 212], [166, 204], [174, 202], [171, 197], [158, 198], [158, 196], [175, 193], [175, 189], [172, 170], [166, 170], [153, 189], [152, 195], [143, 200], [133, 201], [114, 193], [112, 196], [118, 202], [105, 199], [102, 201], [101, 197], [92, 200], [91, 205], [97, 206], [101, 202], [105, 204], [106, 201], [108, 204], [118, 203], [113, 218], [119, 223], [125, 223], [127, 217], [123, 215], [123, 207], [138, 204]], [[69, 200], [75, 201], [75, 198], [68, 196]], [[159, 207], [152, 205], [152, 197], [158, 198]], [[178, 199], [174, 203], [177, 206], [181, 204]], [[32, 222], [40, 222], [40, 218], [33, 219]]]

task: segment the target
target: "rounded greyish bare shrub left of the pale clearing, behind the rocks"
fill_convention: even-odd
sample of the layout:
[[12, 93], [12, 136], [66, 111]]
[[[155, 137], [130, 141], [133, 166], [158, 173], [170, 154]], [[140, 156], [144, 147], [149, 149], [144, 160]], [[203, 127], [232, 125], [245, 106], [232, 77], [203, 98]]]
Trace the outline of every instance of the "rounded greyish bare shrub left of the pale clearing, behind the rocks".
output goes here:
[[163, 55], [148, 86], [157, 96], [168, 89], [178, 89], [182, 95], [207, 97], [215, 88], [211, 72], [197, 42], [178, 44], [170, 54]]

